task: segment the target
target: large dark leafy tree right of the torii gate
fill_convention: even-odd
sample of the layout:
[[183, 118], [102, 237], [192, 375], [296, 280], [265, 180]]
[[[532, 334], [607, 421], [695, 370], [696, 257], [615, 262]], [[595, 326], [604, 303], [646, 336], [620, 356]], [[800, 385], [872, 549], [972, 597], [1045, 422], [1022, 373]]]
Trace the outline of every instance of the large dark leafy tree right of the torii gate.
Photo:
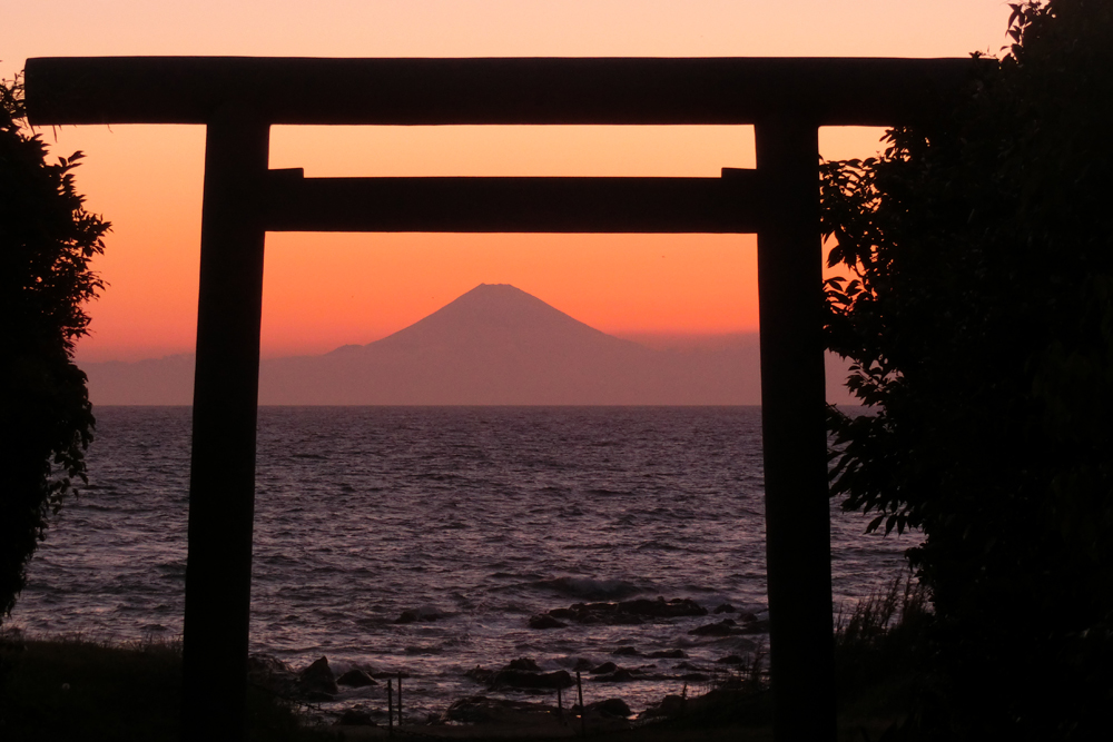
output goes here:
[[[884, 155], [823, 165], [833, 495], [923, 530], [955, 730], [1089, 739], [1113, 710], [1113, 3], [1013, 44]], [[975, 66], [972, 65], [972, 68]]]

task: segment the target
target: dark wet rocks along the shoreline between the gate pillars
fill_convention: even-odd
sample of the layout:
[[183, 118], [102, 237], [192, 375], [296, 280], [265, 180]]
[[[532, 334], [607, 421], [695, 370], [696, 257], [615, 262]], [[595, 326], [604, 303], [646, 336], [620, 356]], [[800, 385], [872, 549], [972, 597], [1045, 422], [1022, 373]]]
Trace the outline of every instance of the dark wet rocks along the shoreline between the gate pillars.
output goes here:
[[[695, 637], [737, 637], [732, 643], [737, 651], [713, 662], [691, 662], [680, 647], [642, 653], [634, 646], [619, 646], [611, 652], [614, 657], [611, 661], [594, 663], [579, 659], [568, 669], [546, 671], [534, 659], [522, 656], [501, 666], [476, 665], [464, 672], [464, 677], [475, 684], [475, 693], [456, 698], [440, 713], [424, 712], [416, 718], [406, 705], [405, 681], [410, 680], [406, 672], [376, 671], [371, 666], [345, 670], [343, 664], [337, 672], [326, 656], [295, 670], [275, 656], [253, 654], [248, 679], [254, 685], [303, 706], [313, 721], [341, 726], [383, 728], [405, 723], [423, 729], [445, 725], [536, 729], [541, 725], [560, 732], [561, 728], [574, 723], [588, 724], [597, 731], [617, 731], [630, 728], [631, 723], [682, 714], [690, 703], [697, 703], [696, 696], [725, 689], [737, 690], [746, 683], [759, 685], [768, 622], [727, 604], [709, 612], [689, 598], [666, 601], [663, 597], [575, 603], [528, 620], [530, 629], [549, 632], [570, 623], [638, 625], [709, 613], [730, 617], [701, 624], [687, 633]], [[434, 622], [439, 617], [435, 613], [405, 611], [395, 623]], [[658, 660], [680, 662], [661, 667]], [[681, 694], [666, 694], [658, 703], [634, 713], [617, 689], [638, 681], [670, 682], [682, 685], [683, 690]], [[577, 701], [583, 698], [584, 684], [594, 687], [590, 695], [597, 700], [584, 704], [581, 713]], [[539, 695], [546, 699], [538, 700]], [[601, 695], [605, 698], [600, 700]]]

